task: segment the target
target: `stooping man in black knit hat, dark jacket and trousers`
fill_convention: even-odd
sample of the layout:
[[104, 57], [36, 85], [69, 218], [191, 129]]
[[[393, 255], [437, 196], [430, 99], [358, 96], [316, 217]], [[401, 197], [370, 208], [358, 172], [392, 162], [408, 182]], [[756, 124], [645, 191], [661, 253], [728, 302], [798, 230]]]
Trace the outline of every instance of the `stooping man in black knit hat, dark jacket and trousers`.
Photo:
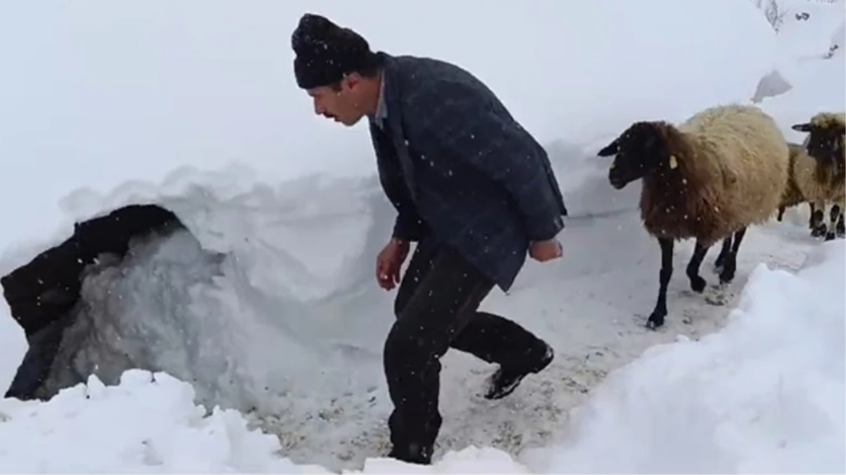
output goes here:
[[449, 347], [499, 364], [488, 399], [552, 362], [546, 342], [477, 308], [494, 285], [508, 291], [527, 251], [539, 261], [561, 256], [555, 238], [567, 210], [541, 145], [464, 69], [371, 52], [353, 30], [315, 14], [299, 20], [291, 44], [297, 84], [317, 114], [346, 126], [369, 117], [382, 188], [398, 211], [376, 258], [379, 285], [400, 284], [383, 354], [389, 456], [429, 464]]

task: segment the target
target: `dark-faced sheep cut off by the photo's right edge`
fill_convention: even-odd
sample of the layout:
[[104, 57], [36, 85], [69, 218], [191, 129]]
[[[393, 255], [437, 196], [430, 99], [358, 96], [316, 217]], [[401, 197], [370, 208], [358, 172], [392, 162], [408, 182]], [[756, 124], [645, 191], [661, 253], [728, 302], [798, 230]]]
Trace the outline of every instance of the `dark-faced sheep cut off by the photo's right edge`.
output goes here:
[[[825, 234], [830, 241], [837, 234], [846, 234], [842, 222], [846, 202], [846, 113], [819, 112], [809, 122], [796, 123], [791, 128], [808, 134], [803, 145], [812, 160], [796, 162], [795, 181], [805, 199], [816, 203], [817, 210], [811, 216], [813, 234]], [[826, 226], [821, 205], [828, 201], [834, 205]]]

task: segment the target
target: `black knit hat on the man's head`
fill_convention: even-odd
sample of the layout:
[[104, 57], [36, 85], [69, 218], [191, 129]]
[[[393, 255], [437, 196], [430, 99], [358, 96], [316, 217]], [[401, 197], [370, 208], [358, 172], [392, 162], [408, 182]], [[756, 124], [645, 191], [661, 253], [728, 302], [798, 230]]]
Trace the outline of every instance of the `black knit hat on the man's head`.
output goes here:
[[296, 53], [294, 75], [302, 89], [337, 83], [345, 74], [374, 60], [370, 45], [361, 35], [317, 14], [304, 14], [299, 19], [291, 47]]

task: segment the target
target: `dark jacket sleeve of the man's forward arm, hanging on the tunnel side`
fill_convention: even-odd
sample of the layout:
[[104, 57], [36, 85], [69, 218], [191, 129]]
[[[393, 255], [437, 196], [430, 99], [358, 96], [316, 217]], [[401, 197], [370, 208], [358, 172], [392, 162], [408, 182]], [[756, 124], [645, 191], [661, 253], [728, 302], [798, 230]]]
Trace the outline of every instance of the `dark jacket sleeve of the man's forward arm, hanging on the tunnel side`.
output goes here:
[[370, 127], [373, 147], [376, 150], [379, 183], [382, 184], [382, 190], [387, 195], [387, 199], [397, 210], [397, 219], [393, 224], [393, 238], [420, 241], [426, 235], [426, 226], [411, 199], [396, 152], [393, 146], [386, 142], [387, 137], [376, 125], [371, 123]]

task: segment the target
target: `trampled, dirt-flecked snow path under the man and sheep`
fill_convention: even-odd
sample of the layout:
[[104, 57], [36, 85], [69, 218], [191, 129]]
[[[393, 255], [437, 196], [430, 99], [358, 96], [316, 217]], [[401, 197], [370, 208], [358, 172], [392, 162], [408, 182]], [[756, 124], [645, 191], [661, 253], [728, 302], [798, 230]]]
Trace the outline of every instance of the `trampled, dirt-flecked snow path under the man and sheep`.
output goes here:
[[[493, 447], [517, 455], [546, 445], [563, 434], [567, 412], [611, 369], [637, 358], [647, 347], [678, 335], [696, 339], [717, 330], [737, 303], [751, 270], [760, 263], [796, 270], [817, 242], [805, 232], [807, 208], [788, 210], [783, 222], [750, 229], [739, 254], [737, 277], [728, 303], [715, 306], [689, 290], [684, 265], [693, 243], [675, 253], [675, 273], [668, 298], [670, 314], [660, 331], [646, 330], [646, 315], [657, 292], [659, 250], [643, 231], [632, 206], [639, 188], [616, 192], [604, 177], [589, 181], [573, 201], [590, 208], [591, 200], [618, 199], [606, 216], [573, 216], [561, 236], [565, 255], [555, 265], [527, 265], [508, 297], [494, 292], [485, 307], [516, 319], [557, 350], [542, 374], [524, 380], [503, 401], [486, 401], [481, 388], [492, 369], [464, 353], [443, 358], [441, 411], [444, 417], [436, 457], [468, 445]], [[626, 201], [629, 203], [626, 203]], [[716, 283], [712, 248], [702, 276]], [[548, 296], [554, 295], [554, 300]], [[355, 318], [353, 315], [350, 318]], [[279, 434], [294, 462], [319, 463], [330, 469], [360, 467], [366, 457], [387, 452], [387, 396], [384, 386], [367, 394], [350, 394], [320, 412], [303, 413], [304, 401], [287, 401], [291, 412], [262, 418], [259, 425]]]

